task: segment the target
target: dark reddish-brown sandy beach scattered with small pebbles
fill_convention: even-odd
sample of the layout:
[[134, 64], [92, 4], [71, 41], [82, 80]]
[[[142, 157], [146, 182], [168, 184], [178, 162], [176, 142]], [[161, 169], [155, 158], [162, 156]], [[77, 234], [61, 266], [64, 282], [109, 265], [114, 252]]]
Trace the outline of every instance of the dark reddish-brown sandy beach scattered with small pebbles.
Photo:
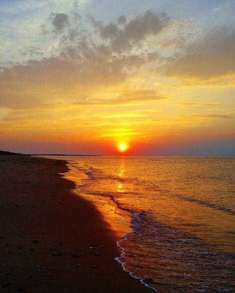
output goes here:
[[0, 156], [1, 292], [153, 292], [115, 261], [117, 233], [66, 171], [63, 160]]

